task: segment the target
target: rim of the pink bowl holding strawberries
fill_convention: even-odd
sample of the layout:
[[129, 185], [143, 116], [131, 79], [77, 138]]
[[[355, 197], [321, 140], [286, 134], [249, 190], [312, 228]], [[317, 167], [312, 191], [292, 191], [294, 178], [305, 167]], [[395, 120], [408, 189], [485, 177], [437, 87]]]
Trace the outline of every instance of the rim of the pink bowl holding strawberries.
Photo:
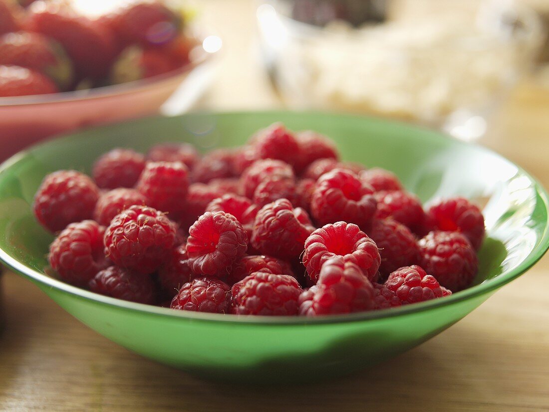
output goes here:
[[214, 55], [219, 54], [220, 50], [206, 52], [202, 46], [203, 38], [197, 38], [199, 44], [193, 48], [195, 58], [192, 62], [186, 63], [181, 67], [170, 70], [167, 73], [148, 77], [147, 79], [133, 80], [117, 85], [92, 87], [85, 90], [73, 90], [69, 92], [32, 94], [30, 96], [11, 96], [0, 97], [0, 109], [15, 106], [54, 104], [66, 102], [79, 102], [83, 100], [100, 99], [110, 96], [119, 96], [123, 94], [136, 93], [158, 83], [169, 82], [182, 75], [191, 73], [194, 69], [209, 62]]

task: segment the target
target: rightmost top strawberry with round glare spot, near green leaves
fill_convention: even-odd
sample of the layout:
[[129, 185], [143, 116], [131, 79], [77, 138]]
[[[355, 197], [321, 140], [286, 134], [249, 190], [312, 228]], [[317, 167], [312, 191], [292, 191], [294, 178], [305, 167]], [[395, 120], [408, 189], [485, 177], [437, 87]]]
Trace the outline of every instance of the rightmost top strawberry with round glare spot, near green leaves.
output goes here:
[[124, 44], [165, 44], [181, 30], [181, 17], [158, 0], [133, 1], [103, 21]]

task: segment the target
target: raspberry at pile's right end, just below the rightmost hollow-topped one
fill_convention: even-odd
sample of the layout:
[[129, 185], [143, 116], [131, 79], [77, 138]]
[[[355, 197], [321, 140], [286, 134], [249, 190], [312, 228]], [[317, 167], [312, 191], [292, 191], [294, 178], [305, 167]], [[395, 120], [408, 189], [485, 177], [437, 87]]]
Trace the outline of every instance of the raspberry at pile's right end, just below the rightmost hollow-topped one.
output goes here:
[[418, 246], [421, 266], [452, 292], [469, 286], [477, 274], [477, 255], [461, 233], [430, 232]]

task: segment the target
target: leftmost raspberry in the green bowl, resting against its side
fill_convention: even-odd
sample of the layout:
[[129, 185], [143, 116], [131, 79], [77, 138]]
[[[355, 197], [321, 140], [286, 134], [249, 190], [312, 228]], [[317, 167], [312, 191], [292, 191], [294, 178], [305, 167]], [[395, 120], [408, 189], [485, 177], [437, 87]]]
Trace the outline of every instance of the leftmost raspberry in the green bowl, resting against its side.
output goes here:
[[44, 177], [35, 194], [33, 211], [44, 227], [57, 232], [69, 223], [92, 219], [98, 198], [99, 189], [88, 176], [59, 170]]

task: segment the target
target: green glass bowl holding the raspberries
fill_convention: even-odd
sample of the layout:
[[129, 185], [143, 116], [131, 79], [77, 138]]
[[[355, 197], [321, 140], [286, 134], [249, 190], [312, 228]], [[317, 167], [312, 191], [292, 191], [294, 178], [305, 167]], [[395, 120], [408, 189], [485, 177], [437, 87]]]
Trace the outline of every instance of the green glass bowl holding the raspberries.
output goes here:
[[[44, 175], [91, 170], [114, 147], [146, 151], [186, 141], [200, 148], [238, 146], [283, 121], [332, 137], [345, 160], [393, 170], [424, 202], [462, 195], [484, 206], [488, 238], [472, 287], [395, 309], [315, 319], [175, 311], [100, 296], [45, 274], [53, 237], [31, 213]], [[147, 118], [40, 144], [0, 168], [0, 258], [61, 307], [112, 341], [196, 375], [232, 382], [307, 382], [378, 363], [445, 330], [545, 253], [547, 194], [530, 175], [479, 146], [386, 120], [326, 113], [189, 114]]]

